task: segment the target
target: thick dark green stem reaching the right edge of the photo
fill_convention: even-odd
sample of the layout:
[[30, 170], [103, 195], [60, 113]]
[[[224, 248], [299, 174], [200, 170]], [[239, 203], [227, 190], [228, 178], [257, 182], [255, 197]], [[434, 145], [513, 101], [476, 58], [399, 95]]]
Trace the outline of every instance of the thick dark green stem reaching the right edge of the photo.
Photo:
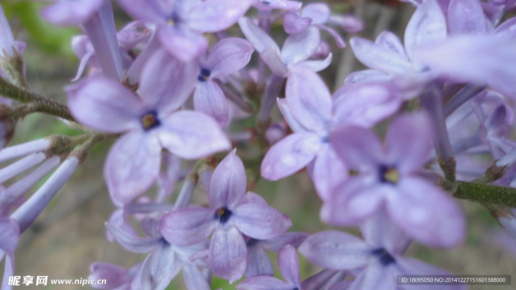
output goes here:
[[516, 188], [459, 181], [454, 197], [516, 207]]

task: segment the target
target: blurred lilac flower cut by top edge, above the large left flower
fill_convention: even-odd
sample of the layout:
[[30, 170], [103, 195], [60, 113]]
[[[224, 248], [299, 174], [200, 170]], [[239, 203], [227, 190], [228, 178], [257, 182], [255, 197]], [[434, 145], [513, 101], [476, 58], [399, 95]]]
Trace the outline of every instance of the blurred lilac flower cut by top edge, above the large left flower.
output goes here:
[[202, 54], [207, 41], [202, 33], [235, 24], [252, 0], [118, 0], [132, 17], [157, 25], [163, 46], [175, 57], [190, 61]]

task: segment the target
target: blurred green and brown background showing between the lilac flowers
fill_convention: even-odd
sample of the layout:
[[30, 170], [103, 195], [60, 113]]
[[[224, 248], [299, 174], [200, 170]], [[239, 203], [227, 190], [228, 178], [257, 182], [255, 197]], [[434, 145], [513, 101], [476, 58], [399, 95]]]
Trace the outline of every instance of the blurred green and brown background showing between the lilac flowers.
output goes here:
[[[45, 4], [40, 2], [1, 1], [14, 36], [27, 43], [24, 53], [27, 78], [30, 86], [52, 99], [66, 102], [62, 88], [70, 84], [78, 65], [71, 50], [71, 37], [80, 34], [78, 28], [58, 28], [39, 18], [39, 10]], [[306, 2], [308, 3], [308, 2]], [[405, 27], [414, 11], [409, 4], [387, 0], [329, 1], [334, 13], [354, 13], [362, 18], [365, 29], [360, 36], [374, 40], [383, 30], [391, 30], [401, 39]], [[114, 2], [117, 27], [122, 28], [130, 18]], [[235, 31], [238, 31], [236, 29]], [[272, 27], [278, 43], [283, 43], [285, 35], [280, 22]], [[341, 31], [342, 32], [342, 31]], [[342, 86], [344, 78], [352, 71], [363, 69], [354, 59], [349, 48], [339, 51], [326, 32], [321, 33], [332, 45], [334, 58], [331, 66], [320, 74], [330, 89]], [[351, 35], [343, 35], [346, 42]], [[276, 117], [279, 113], [276, 112]], [[378, 131], [382, 131], [381, 125]], [[35, 140], [51, 134], [77, 135], [60, 121], [41, 114], [33, 114], [18, 123], [11, 145]], [[103, 178], [104, 157], [112, 142], [105, 141], [96, 146], [88, 159], [73, 178], [60, 190], [36, 222], [22, 234], [15, 253], [15, 275], [49, 276], [50, 279], [87, 279], [89, 266], [103, 261], [126, 268], [142, 261], [147, 254], [136, 254], [124, 250], [117, 243], [109, 243], [105, 238], [104, 222], [115, 206], [112, 205]], [[14, 181], [11, 181], [14, 182]], [[35, 188], [42, 184], [41, 181]], [[181, 183], [176, 184], [177, 194]], [[34, 189], [35, 189], [34, 188]], [[33, 189], [33, 191], [34, 191]], [[288, 215], [293, 220], [289, 231], [315, 233], [329, 229], [319, 221], [321, 205], [313, 185], [305, 171], [279, 182], [260, 179], [253, 191], [263, 196], [269, 205]], [[173, 201], [174, 196], [170, 201]], [[199, 184], [194, 194], [194, 202], [207, 205], [207, 198]], [[460, 201], [468, 217], [468, 233], [465, 243], [449, 250], [429, 249], [412, 244], [406, 256], [462, 275], [511, 275], [516, 274], [516, 238], [509, 236], [479, 204]], [[137, 223], [135, 228], [139, 229]], [[357, 229], [341, 229], [358, 234]], [[141, 231], [140, 231], [141, 232]], [[300, 257], [301, 275], [306, 278], [319, 269]], [[271, 253], [276, 260], [276, 254]], [[2, 262], [2, 266], [3, 266]], [[279, 278], [281, 275], [277, 273]], [[513, 275], [516, 279], [516, 275]], [[23, 280], [23, 279], [22, 279]], [[213, 289], [234, 289], [238, 284], [213, 278]], [[470, 286], [472, 290], [516, 289], [512, 286]], [[84, 287], [89, 287], [85, 285]], [[83, 289], [80, 285], [30, 285], [14, 288], [24, 289]], [[176, 277], [168, 289], [185, 289], [181, 275]]]

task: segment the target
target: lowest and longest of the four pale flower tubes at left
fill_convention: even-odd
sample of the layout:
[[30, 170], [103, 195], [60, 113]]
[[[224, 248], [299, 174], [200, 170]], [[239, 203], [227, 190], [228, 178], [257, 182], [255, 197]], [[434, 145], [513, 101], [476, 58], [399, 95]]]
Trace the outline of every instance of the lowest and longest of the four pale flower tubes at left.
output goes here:
[[57, 191], [70, 179], [79, 165], [79, 159], [71, 156], [59, 166], [33, 196], [18, 208], [11, 218], [20, 223], [20, 232], [25, 231], [36, 220], [43, 208], [54, 198]]

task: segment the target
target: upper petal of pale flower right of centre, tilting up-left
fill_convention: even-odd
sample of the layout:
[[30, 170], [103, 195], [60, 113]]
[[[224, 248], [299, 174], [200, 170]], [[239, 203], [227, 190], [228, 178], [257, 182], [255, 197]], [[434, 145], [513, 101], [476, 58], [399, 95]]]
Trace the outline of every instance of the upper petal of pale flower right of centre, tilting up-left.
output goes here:
[[325, 131], [331, 118], [331, 96], [322, 78], [308, 68], [291, 68], [285, 87], [288, 106], [306, 128]]

